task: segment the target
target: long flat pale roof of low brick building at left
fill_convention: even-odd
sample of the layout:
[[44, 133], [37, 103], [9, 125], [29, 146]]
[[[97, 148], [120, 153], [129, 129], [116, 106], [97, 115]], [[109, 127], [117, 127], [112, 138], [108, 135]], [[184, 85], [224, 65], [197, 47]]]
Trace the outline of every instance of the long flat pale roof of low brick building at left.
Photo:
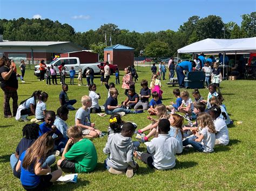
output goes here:
[[3, 41], [0, 46], [52, 46], [70, 43], [69, 41]]

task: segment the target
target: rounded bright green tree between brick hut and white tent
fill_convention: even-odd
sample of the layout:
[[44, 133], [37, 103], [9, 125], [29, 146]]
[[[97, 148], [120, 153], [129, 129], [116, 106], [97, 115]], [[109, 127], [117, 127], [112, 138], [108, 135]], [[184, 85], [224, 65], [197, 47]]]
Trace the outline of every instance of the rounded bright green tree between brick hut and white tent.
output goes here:
[[145, 47], [145, 55], [149, 57], [161, 57], [166, 56], [169, 53], [169, 46], [163, 41], [152, 41]]

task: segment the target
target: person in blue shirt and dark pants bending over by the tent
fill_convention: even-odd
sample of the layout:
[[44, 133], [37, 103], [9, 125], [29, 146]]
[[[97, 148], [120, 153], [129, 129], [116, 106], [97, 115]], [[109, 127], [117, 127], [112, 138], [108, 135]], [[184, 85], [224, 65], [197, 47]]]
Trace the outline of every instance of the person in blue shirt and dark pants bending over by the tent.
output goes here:
[[176, 73], [178, 77], [178, 83], [180, 88], [184, 88], [184, 79], [185, 75], [183, 73], [183, 70], [186, 70], [187, 72], [191, 72], [192, 68], [196, 66], [196, 63], [194, 61], [183, 61], [178, 63], [176, 66]]

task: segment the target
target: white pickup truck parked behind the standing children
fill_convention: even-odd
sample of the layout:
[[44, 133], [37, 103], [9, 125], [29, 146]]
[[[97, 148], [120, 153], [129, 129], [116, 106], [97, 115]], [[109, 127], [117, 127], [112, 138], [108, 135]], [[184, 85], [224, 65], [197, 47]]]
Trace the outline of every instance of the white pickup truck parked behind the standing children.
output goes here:
[[[69, 74], [69, 70], [71, 69], [71, 67], [74, 67], [74, 69], [76, 70], [76, 74], [78, 74], [79, 69], [82, 68], [82, 73], [84, 77], [86, 76], [85, 74], [86, 68], [93, 69], [93, 72], [95, 74], [99, 74], [100, 72], [100, 67], [98, 66], [99, 63], [80, 63], [80, 60], [77, 57], [57, 58], [56, 60], [53, 60], [51, 63], [47, 64], [46, 66], [53, 65], [53, 68], [56, 69], [57, 75], [59, 75], [58, 66], [60, 66], [62, 62], [65, 63], [67, 74]], [[34, 75], [36, 75], [37, 77], [40, 75], [39, 67], [40, 67], [39, 65], [35, 66]]]

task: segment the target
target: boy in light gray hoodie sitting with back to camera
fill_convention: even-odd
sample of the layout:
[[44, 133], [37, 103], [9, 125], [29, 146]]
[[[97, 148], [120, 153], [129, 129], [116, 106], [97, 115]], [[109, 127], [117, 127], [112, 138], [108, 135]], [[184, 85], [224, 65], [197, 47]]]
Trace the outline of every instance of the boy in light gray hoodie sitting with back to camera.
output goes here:
[[111, 174], [122, 174], [131, 178], [138, 169], [138, 164], [133, 160], [133, 143], [131, 137], [136, 127], [130, 123], [124, 123], [121, 133], [112, 133], [107, 138], [103, 149], [109, 157], [105, 160], [105, 167]]

